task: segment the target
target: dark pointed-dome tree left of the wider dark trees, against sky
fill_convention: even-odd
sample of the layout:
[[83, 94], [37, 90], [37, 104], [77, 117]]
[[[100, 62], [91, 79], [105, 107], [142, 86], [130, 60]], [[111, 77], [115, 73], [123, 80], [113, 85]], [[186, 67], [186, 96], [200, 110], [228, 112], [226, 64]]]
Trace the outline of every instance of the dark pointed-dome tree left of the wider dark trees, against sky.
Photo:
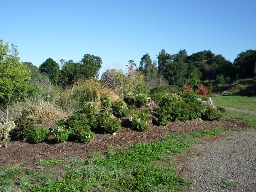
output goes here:
[[39, 66], [38, 71], [48, 75], [53, 84], [58, 82], [60, 66], [52, 58], [46, 59], [46, 61]]

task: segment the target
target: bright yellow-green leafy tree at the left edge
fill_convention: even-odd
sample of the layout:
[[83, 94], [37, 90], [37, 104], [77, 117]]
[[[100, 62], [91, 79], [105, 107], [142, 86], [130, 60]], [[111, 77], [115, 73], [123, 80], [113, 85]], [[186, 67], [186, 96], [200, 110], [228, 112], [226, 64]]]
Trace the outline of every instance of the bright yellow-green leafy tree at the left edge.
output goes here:
[[17, 98], [29, 90], [30, 73], [25, 64], [20, 63], [17, 50], [10, 53], [8, 43], [0, 39], [0, 102]]

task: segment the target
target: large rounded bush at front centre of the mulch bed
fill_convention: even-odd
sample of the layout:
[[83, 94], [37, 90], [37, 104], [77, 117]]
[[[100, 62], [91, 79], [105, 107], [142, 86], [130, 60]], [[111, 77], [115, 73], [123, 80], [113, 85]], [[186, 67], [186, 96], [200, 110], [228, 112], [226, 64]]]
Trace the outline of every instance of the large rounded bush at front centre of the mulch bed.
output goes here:
[[97, 118], [98, 126], [107, 133], [114, 133], [121, 128], [121, 120], [116, 118], [111, 112], [106, 111]]

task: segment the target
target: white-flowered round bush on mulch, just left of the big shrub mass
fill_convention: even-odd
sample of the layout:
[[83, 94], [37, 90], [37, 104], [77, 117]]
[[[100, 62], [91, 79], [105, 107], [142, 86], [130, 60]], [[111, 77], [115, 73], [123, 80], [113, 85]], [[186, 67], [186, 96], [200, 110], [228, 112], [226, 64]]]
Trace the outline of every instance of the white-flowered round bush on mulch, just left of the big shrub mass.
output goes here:
[[149, 128], [148, 119], [149, 115], [144, 112], [137, 112], [132, 114], [130, 118], [130, 122], [132, 124], [132, 128], [139, 131], [146, 131]]

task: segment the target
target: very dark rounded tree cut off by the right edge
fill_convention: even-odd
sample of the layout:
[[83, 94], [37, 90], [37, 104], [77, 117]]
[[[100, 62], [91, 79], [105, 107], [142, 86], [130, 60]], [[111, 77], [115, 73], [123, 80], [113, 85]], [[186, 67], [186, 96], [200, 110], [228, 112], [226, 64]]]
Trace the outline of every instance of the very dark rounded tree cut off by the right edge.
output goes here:
[[239, 78], [253, 78], [256, 69], [256, 50], [246, 50], [238, 54], [234, 60]]

